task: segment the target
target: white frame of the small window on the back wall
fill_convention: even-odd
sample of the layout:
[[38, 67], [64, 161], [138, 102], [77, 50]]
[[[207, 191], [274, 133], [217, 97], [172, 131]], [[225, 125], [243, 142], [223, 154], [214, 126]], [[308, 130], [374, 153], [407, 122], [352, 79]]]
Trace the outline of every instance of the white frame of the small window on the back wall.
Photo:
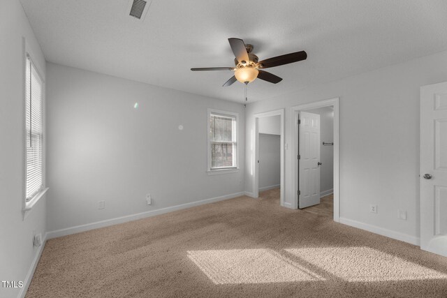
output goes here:
[[[236, 158], [236, 165], [234, 167], [222, 167], [222, 168], [212, 168], [212, 161], [211, 161], [211, 114], [217, 114], [221, 116], [226, 117], [235, 117], [236, 118], [236, 150], [234, 152], [235, 158]], [[207, 110], [207, 174], [227, 174], [227, 173], [233, 173], [239, 171], [239, 151], [240, 151], [240, 142], [239, 142], [239, 113], [236, 112], [228, 112], [223, 110], [215, 110], [215, 109], [208, 109]]]

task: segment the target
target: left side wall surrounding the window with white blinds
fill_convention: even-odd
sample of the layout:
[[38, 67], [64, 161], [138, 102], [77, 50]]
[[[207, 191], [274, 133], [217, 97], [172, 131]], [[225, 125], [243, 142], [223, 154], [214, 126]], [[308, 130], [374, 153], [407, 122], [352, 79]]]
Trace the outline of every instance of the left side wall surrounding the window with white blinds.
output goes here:
[[[24, 52], [26, 38], [34, 60], [45, 75], [45, 59], [20, 2], [0, 1], [0, 281], [26, 282], [38, 248], [33, 230], [45, 234], [45, 198], [27, 218], [24, 198]], [[0, 285], [0, 297], [17, 297], [20, 288]]]

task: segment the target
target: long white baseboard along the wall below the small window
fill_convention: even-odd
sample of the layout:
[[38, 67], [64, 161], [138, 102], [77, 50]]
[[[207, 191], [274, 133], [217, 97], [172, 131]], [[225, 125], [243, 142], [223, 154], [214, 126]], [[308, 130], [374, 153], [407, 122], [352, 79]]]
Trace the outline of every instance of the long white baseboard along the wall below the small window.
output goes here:
[[241, 191], [240, 193], [232, 193], [230, 195], [222, 195], [222, 196], [216, 197], [216, 198], [210, 198], [210, 199], [200, 200], [200, 201], [196, 201], [196, 202], [190, 202], [190, 203], [186, 203], [186, 204], [179, 204], [179, 205], [176, 205], [173, 207], [166, 207], [166, 208], [146, 211], [146, 212], [142, 212], [142, 213], [138, 213], [138, 214], [131, 214], [131, 215], [121, 216], [121, 217], [117, 217], [117, 218], [110, 218], [105, 221], [96, 221], [95, 223], [87, 223], [85, 225], [77, 225], [77, 226], [71, 227], [71, 228], [65, 228], [65, 229], [61, 229], [61, 230], [47, 232], [47, 239], [62, 237], [62, 236], [66, 236], [69, 234], [76, 234], [76, 233], [94, 230], [94, 229], [98, 229], [98, 228], [104, 228], [109, 225], [117, 225], [118, 223], [126, 223], [128, 221], [136, 221], [141, 218], [147, 218], [150, 216], [165, 214], [165, 213], [172, 212], [172, 211], [196, 207], [196, 206], [200, 206], [203, 204], [209, 204], [212, 202], [219, 202], [219, 201], [223, 201], [223, 200], [237, 198], [237, 197], [240, 197], [241, 195], [244, 195], [244, 192]]

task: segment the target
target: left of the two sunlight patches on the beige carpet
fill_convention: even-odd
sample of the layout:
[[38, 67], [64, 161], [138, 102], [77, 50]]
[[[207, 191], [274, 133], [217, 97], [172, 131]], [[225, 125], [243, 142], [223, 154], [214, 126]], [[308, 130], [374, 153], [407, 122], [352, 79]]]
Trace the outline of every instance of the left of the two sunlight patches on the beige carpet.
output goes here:
[[215, 284], [324, 280], [269, 249], [188, 251], [188, 258]]

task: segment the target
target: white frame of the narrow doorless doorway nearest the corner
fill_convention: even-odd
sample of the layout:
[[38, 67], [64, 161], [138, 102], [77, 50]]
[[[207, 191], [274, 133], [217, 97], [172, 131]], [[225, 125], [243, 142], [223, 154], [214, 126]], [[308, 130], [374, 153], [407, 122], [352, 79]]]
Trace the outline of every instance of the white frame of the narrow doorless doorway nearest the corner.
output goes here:
[[259, 124], [260, 118], [280, 116], [280, 126], [281, 126], [281, 170], [280, 170], [280, 198], [279, 204], [284, 207], [284, 109], [274, 110], [270, 112], [262, 112], [254, 114], [254, 198], [259, 198]]

